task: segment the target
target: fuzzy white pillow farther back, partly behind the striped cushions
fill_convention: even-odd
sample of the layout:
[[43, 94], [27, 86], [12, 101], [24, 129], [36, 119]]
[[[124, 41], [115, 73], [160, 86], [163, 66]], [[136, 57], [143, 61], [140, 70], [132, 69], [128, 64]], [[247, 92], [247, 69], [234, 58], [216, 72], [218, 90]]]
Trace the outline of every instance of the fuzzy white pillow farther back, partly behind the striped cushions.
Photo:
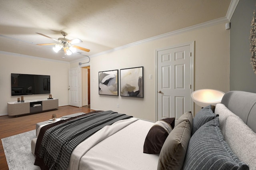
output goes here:
[[226, 131], [226, 119], [230, 116], [237, 117], [232, 111], [230, 111], [225, 105], [218, 103], [215, 107], [214, 113], [216, 115], [219, 115], [219, 122], [220, 122], [220, 130], [222, 131], [222, 134], [225, 136]]

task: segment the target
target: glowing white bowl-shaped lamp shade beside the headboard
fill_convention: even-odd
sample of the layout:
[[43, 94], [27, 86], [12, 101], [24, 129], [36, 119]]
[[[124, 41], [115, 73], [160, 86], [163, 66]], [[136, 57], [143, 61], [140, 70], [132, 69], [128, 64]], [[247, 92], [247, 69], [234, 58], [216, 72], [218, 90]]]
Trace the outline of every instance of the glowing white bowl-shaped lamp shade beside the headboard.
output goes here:
[[220, 103], [225, 93], [214, 89], [200, 89], [191, 94], [191, 98], [200, 107], [206, 107], [208, 105], [216, 106]]

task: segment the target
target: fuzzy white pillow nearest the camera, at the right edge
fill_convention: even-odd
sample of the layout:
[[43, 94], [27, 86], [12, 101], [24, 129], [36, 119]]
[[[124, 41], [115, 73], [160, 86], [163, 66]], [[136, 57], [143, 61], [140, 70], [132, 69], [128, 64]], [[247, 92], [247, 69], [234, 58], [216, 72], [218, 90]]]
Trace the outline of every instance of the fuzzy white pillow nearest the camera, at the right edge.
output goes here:
[[256, 170], [256, 133], [239, 117], [229, 116], [226, 119], [224, 139], [240, 160]]

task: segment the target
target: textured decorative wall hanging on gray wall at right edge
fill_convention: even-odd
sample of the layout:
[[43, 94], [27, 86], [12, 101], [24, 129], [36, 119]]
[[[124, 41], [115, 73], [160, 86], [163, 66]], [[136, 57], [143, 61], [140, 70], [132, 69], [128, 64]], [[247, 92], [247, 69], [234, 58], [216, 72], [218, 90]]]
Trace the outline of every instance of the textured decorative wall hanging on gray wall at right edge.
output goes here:
[[256, 13], [253, 12], [250, 30], [250, 52], [251, 52], [251, 65], [254, 73], [256, 74]]

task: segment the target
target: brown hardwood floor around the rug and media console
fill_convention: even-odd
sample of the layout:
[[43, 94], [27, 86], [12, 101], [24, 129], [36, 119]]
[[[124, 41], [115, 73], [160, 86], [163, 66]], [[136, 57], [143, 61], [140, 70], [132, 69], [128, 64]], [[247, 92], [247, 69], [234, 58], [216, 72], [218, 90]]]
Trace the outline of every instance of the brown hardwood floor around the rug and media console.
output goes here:
[[[28, 132], [36, 129], [36, 123], [52, 119], [52, 114], [56, 114], [57, 118], [73, 113], [88, 113], [88, 107], [62, 106], [58, 110], [36, 113], [31, 115], [20, 115], [19, 117], [10, 117], [8, 115], [0, 117], [0, 138], [6, 138], [15, 134]], [[4, 155], [2, 140], [0, 140], [0, 170], [8, 170], [8, 164]]]

